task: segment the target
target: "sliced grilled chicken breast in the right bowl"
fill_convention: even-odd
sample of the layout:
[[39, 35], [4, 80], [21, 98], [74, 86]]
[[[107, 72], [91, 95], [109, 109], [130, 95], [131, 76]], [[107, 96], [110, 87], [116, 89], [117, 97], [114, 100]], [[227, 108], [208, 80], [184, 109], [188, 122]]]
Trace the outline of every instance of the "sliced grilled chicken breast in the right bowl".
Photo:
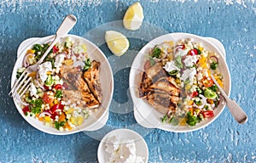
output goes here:
[[172, 76], [167, 76], [160, 63], [156, 63], [141, 74], [138, 96], [145, 98], [162, 114], [175, 112], [180, 88]]

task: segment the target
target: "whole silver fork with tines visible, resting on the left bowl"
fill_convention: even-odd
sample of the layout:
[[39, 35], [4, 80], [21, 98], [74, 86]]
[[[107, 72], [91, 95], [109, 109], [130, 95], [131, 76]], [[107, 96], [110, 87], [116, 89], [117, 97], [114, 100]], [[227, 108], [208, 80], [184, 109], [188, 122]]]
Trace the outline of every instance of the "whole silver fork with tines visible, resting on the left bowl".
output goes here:
[[26, 70], [24, 70], [18, 81], [15, 82], [14, 87], [12, 87], [11, 91], [9, 92], [9, 96], [13, 97], [14, 95], [20, 94], [21, 97], [24, 93], [26, 93], [32, 81], [32, 77], [30, 76], [30, 74], [38, 70], [38, 65], [42, 64], [51, 48], [54, 47], [55, 43], [58, 42], [61, 37], [67, 35], [68, 31], [73, 28], [73, 25], [75, 25], [76, 22], [77, 18], [73, 14], [67, 15], [67, 17], [62, 21], [60, 27], [56, 31], [54, 41], [51, 42], [49, 48], [46, 50], [44, 55], [41, 57], [41, 59], [38, 60], [35, 65], [30, 65], [26, 68]]

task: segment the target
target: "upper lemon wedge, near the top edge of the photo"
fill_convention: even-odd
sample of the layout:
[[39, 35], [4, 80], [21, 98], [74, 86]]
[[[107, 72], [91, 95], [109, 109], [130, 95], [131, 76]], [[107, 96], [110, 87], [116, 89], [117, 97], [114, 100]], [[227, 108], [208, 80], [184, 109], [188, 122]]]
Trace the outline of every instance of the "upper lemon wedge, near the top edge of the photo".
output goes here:
[[133, 3], [125, 12], [123, 24], [127, 30], [137, 30], [143, 24], [143, 7], [141, 3]]

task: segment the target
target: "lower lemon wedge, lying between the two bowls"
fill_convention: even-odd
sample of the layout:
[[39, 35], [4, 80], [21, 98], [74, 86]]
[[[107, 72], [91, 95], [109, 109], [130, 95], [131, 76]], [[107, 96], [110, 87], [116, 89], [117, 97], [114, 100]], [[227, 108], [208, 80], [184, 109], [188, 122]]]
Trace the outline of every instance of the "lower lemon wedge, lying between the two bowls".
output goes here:
[[108, 48], [116, 56], [123, 55], [130, 46], [128, 39], [118, 31], [106, 31], [105, 41]]

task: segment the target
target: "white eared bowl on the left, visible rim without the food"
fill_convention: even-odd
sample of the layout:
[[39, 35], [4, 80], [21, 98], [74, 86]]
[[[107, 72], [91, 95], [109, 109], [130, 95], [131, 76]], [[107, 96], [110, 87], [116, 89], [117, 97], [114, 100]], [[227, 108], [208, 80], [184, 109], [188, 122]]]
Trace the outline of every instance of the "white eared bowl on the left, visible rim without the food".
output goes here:
[[[20, 112], [20, 115], [32, 126], [36, 127], [38, 130], [42, 132], [47, 132], [50, 134], [55, 135], [67, 135], [72, 134], [75, 132], [82, 132], [82, 131], [95, 131], [102, 126], [106, 124], [108, 121], [108, 107], [111, 102], [112, 96], [113, 96], [113, 73], [111, 70], [111, 67], [108, 63], [108, 59], [105, 57], [104, 53], [102, 53], [100, 48], [97, 48], [96, 45], [83, 37], [78, 37], [74, 35], [67, 35], [66, 37], [71, 37], [74, 40], [80, 40], [81, 42], [84, 42], [87, 47], [87, 51], [90, 55], [91, 59], [95, 59], [96, 61], [99, 61], [101, 63], [101, 72], [100, 72], [100, 81], [102, 84], [102, 104], [98, 108], [98, 111], [90, 115], [87, 120], [84, 121], [84, 123], [81, 126], [77, 126], [73, 128], [71, 131], [59, 131], [51, 126], [44, 126], [43, 122], [38, 121], [30, 116], [24, 115], [22, 112], [22, 109], [20, 108], [20, 105], [18, 102], [14, 99], [15, 106], [17, 110]], [[35, 43], [45, 43], [45, 42], [51, 42], [53, 41], [54, 36], [49, 37], [33, 37], [28, 38], [24, 42], [20, 43], [20, 46], [17, 51], [17, 61], [15, 63], [15, 68], [12, 73], [11, 78], [11, 86], [14, 86], [15, 79], [16, 79], [16, 71], [18, 68], [21, 67], [22, 60], [26, 54], [26, 50], [29, 48], [32, 48], [32, 45]]]

